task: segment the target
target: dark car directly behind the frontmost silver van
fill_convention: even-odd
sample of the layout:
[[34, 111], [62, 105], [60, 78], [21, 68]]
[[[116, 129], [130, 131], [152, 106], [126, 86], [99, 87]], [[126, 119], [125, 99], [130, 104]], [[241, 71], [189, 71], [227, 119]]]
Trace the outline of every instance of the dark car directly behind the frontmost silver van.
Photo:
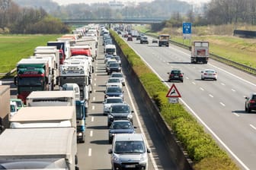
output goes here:
[[128, 120], [113, 121], [108, 130], [108, 143], [112, 143], [112, 140], [116, 134], [135, 134], [136, 127]]

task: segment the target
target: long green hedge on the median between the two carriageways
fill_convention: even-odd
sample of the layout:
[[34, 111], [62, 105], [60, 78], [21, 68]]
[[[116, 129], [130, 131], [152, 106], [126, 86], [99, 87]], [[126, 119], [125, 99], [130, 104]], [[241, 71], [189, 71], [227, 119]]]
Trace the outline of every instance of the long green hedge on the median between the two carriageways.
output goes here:
[[228, 154], [207, 134], [197, 120], [184, 109], [181, 104], [170, 105], [166, 101], [168, 88], [146, 66], [146, 64], [133, 52], [133, 49], [117, 35], [110, 31], [115, 41], [122, 49], [124, 55], [128, 55], [128, 61], [133, 70], [139, 76], [146, 91], [155, 100], [165, 122], [174, 131], [181, 141], [190, 158], [194, 161], [194, 169], [197, 170], [236, 170], [238, 167], [232, 162]]

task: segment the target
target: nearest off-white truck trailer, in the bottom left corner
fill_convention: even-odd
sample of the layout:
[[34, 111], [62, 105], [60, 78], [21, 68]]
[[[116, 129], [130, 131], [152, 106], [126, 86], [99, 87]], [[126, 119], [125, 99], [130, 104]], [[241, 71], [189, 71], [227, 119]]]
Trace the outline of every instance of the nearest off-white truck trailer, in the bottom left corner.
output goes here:
[[1, 169], [79, 169], [75, 128], [6, 129], [0, 141]]

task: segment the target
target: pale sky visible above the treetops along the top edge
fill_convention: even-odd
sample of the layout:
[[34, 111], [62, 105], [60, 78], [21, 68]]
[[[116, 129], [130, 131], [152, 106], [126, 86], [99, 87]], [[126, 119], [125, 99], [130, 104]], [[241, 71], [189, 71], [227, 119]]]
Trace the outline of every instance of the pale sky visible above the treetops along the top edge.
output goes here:
[[[111, 0], [53, 0], [53, 2], [59, 3], [59, 5], [78, 4], [78, 3], [97, 3], [97, 2], [110, 2]], [[113, 1], [113, 0], [112, 0]], [[117, 0], [117, 2], [152, 2], [153, 0]], [[181, 0], [184, 2], [210, 2], [210, 0]]]

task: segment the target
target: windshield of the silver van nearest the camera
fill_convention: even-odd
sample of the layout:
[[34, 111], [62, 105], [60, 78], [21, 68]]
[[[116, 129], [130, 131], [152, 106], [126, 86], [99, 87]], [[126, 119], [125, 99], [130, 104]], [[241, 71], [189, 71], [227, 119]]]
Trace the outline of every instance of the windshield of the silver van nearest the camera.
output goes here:
[[146, 148], [142, 141], [117, 141], [114, 153], [145, 153]]

